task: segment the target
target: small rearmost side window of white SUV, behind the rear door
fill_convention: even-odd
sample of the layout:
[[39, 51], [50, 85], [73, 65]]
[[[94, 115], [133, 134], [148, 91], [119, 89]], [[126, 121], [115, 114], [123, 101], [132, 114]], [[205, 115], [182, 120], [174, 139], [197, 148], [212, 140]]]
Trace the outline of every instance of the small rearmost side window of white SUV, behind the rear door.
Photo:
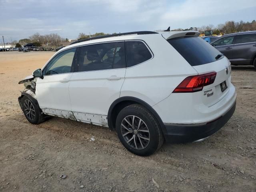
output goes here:
[[131, 67], [152, 58], [146, 45], [141, 41], [126, 42], [127, 67]]

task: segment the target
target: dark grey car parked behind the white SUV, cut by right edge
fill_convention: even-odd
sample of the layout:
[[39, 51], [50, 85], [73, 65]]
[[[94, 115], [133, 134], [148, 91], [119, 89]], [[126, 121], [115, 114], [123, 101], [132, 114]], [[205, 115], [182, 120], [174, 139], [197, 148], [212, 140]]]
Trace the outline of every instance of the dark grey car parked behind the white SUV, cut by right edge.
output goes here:
[[224, 35], [211, 43], [232, 65], [253, 65], [256, 69], [256, 31]]

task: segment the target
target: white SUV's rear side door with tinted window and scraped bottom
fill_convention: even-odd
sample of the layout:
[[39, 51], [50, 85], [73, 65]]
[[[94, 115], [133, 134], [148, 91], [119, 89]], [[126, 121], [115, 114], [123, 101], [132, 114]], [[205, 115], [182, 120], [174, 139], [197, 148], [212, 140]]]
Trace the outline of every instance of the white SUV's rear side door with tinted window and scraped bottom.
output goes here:
[[72, 112], [78, 121], [108, 126], [108, 109], [120, 97], [126, 72], [124, 41], [81, 46], [77, 59], [69, 85]]

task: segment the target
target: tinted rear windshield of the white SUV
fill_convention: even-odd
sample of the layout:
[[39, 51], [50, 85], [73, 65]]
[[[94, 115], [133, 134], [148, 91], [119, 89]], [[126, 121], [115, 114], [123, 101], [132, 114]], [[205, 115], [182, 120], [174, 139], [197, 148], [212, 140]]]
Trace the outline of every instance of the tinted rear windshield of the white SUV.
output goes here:
[[167, 40], [191, 66], [216, 61], [221, 54], [216, 48], [200, 37], [178, 37]]

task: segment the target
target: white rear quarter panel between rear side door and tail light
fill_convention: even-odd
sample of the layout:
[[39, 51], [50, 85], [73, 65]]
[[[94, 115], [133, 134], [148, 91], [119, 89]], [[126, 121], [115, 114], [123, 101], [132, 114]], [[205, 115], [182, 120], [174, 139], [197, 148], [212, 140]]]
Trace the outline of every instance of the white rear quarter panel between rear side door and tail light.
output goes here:
[[140, 40], [154, 56], [126, 69], [120, 97], [136, 97], [153, 106], [167, 98], [184, 78], [198, 73], [160, 34], [157, 38], [147, 35]]

